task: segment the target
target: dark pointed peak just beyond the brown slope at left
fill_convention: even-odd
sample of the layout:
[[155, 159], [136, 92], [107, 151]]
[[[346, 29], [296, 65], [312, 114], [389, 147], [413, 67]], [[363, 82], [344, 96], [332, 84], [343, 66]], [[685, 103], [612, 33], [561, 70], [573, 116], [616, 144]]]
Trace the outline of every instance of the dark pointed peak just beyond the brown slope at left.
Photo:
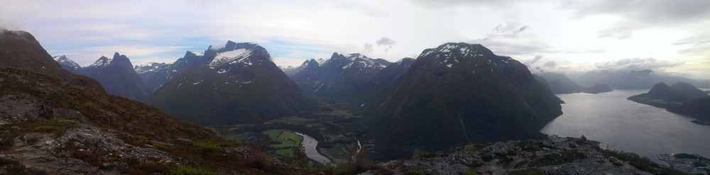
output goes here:
[[118, 52], [111, 58], [99, 57], [99, 60], [84, 67], [79, 73], [97, 79], [109, 94], [136, 101], [146, 101], [150, 94], [136, 70], [133, 69], [131, 60]]

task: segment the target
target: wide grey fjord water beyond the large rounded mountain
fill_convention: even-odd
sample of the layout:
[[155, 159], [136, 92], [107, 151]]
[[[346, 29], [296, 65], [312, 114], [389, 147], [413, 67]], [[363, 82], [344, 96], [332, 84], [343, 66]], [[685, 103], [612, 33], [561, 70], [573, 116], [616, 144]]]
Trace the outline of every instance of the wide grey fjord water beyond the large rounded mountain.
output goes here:
[[[710, 126], [626, 98], [648, 90], [615, 90], [602, 94], [558, 94], [563, 115], [540, 132], [602, 142], [601, 147], [635, 152], [655, 162], [663, 153], [710, 157]], [[662, 163], [662, 162], [660, 162]]]

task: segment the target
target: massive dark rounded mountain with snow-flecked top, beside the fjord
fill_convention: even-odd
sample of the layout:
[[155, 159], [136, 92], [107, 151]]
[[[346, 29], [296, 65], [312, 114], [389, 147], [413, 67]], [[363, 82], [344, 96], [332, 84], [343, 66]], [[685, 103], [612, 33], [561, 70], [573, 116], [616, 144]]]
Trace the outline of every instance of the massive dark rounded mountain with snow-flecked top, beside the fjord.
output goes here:
[[483, 45], [424, 50], [393, 86], [382, 103], [366, 104], [383, 159], [408, 157], [415, 149], [544, 137], [539, 130], [562, 114], [559, 98], [528, 67]]

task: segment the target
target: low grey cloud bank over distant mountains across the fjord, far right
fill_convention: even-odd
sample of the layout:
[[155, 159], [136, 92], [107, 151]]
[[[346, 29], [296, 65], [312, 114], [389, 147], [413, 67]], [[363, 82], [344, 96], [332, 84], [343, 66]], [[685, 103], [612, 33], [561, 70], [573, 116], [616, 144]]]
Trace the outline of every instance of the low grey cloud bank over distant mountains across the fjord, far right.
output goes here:
[[597, 62], [594, 63], [594, 67], [599, 70], [611, 70], [611, 71], [631, 71], [631, 70], [645, 70], [651, 69], [654, 71], [662, 71], [666, 68], [677, 67], [685, 62], [680, 61], [669, 61], [669, 60], [656, 60], [655, 58], [625, 58], [621, 60], [615, 60], [610, 62]]

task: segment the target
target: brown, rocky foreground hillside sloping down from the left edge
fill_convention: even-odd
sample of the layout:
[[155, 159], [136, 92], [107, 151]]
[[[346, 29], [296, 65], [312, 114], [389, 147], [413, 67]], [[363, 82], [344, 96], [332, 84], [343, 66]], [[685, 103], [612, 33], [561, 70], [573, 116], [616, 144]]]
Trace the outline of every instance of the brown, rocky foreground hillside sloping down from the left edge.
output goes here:
[[0, 45], [0, 174], [297, 173], [200, 125], [94, 90], [97, 81], [62, 69], [29, 33], [4, 31]]

